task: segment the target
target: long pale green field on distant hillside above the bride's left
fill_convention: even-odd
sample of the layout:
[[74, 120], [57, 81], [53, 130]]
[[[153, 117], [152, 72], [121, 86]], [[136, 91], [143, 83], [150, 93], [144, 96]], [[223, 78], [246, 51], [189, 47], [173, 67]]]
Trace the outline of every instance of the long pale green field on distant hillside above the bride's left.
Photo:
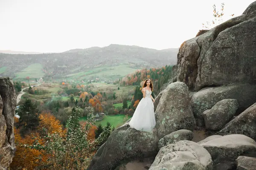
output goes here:
[[[78, 68], [73, 69], [77, 71]], [[119, 79], [122, 76], [135, 72], [137, 69], [130, 68], [127, 64], [121, 64], [117, 66], [104, 66], [99, 68], [94, 68], [89, 71], [75, 72], [73, 74], [68, 74], [67, 79]]]

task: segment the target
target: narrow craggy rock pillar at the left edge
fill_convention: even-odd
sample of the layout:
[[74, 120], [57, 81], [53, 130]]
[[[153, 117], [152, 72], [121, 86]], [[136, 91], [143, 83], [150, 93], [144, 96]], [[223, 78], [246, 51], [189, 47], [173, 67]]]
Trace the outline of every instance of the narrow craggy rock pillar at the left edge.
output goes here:
[[7, 168], [15, 154], [14, 115], [16, 94], [13, 82], [0, 77], [0, 167]]

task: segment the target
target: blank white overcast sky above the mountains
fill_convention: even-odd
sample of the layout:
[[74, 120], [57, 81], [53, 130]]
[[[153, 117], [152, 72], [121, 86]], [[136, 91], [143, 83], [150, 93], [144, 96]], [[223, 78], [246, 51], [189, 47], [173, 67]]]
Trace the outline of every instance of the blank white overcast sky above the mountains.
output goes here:
[[224, 20], [255, 0], [0, 0], [0, 50], [63, 52], [138, 45], [178, 48], [212, 20]]

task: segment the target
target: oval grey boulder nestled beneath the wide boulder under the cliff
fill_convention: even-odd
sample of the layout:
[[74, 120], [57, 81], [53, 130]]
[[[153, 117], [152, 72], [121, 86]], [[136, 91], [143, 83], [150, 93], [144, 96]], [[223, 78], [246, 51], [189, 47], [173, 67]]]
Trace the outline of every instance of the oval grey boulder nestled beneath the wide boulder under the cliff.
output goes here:
[[205, 127], [220, 130], [235, 115], [238, 109], [236, 99], [224, 99], [217, 102], [207, 113], [203, 114]]

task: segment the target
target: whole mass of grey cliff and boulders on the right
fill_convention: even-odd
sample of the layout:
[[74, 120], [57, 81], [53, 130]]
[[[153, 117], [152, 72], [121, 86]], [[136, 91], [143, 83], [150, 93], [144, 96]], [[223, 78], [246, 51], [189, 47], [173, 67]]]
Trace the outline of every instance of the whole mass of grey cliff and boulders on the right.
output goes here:
[[[114, 130], [88, 170], [256, 169], [256, 1], [232, 18], [183, 42], [172, 79], [156, 97], [151, 133]], [[197, 126], [209, 136], [192, 142]], [[147, 169], [148, 169], [147, 168]]]

